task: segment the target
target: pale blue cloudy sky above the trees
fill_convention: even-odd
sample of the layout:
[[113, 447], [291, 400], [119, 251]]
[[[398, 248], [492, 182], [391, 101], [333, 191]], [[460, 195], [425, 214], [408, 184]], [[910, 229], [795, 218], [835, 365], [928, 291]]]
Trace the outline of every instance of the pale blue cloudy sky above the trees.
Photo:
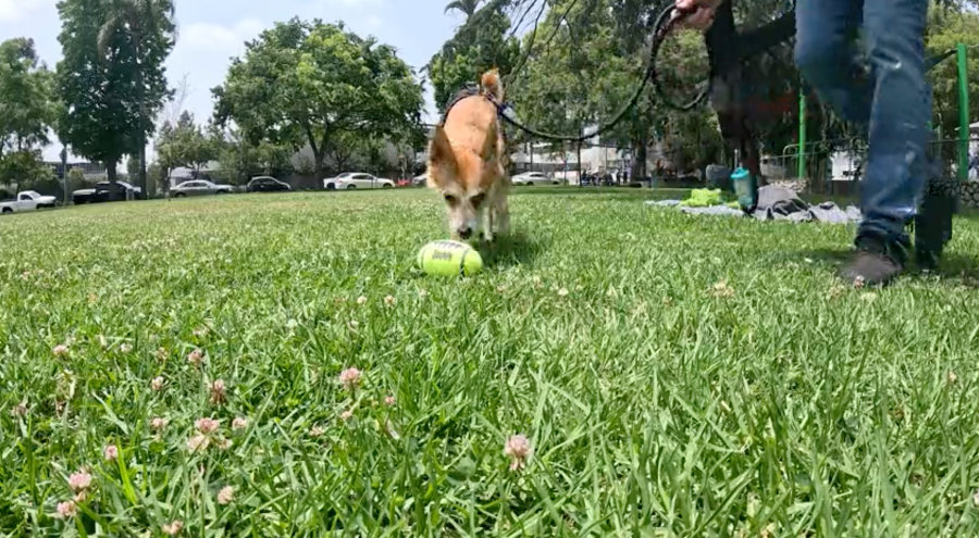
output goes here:
[[[184, 108], [198, 121], [206, 121], [213, 110], [210, 89], [224, 80], [231, 58], [241, 54], [245, 41], [258, 37], [262, 29], [293, 16], [327, 23], [343, 21], [360, 36], [373, 35], [395, 47], [402, 60], [420, 68], [462, 23], [461, 14], [444, 14], [446, 3], [447, 0], [176, 0], [179, 34], [166, 62], [166, 75], [171, 86], [187, 76], [190, 92]], [[55, 4], [57, 0], [0, 0], [0, 40], [33, 38], [38, 54], [53, 67], [62, 55]], [[427, 120], [433, 120], [434, 110], [426, 89]], [[60, 151], [61, 147], [50, 146], [45, 149], [45, 159], [57, 161]]]

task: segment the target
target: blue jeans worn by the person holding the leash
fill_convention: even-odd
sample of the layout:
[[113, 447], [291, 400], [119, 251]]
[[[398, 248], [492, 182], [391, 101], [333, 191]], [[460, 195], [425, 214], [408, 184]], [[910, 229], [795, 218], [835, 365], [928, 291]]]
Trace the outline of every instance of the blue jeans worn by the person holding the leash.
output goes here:
[[[857, 241], [875, 237], [902, 252], [925, 187], [927, 13], [928, 0], [797, 0], [795, 8], [803, 76], [844, 120], [869, 129]], [[858, 62], [860, 28], [866, 65]]]

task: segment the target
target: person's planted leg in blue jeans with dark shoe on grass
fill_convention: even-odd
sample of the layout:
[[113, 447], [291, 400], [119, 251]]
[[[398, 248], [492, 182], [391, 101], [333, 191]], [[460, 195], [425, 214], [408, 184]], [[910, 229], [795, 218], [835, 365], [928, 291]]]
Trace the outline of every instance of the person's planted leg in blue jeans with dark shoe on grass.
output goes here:
[[867, 284], [900, 273], [926, 173], [931, 108], [925, 82], [928, 0], [866, 0], [864, 42], [873, 82], [867, 171], [860, 184], [863, 251], [845, 272]]

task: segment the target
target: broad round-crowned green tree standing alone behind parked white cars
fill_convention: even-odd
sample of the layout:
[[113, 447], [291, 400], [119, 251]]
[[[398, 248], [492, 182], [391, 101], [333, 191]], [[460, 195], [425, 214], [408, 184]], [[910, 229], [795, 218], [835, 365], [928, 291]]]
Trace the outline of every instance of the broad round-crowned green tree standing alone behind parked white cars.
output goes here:
[[234, 122], [256, 148], [308, 145], [318, 177], [336, 137], [405, 136], [423, 105], [421, 86], [392, 47], [319, 20], [263, 32], [212, 92], [220, 124]]

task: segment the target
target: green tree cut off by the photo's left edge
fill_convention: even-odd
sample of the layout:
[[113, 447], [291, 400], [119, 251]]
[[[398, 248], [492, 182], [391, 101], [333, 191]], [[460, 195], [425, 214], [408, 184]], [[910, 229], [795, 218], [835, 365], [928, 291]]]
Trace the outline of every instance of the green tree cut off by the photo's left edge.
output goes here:
[[34, 40], [0, 43], [0, 183], [18, 189], [49, 177], [40, 150], [54, 121], [52, 83]]

